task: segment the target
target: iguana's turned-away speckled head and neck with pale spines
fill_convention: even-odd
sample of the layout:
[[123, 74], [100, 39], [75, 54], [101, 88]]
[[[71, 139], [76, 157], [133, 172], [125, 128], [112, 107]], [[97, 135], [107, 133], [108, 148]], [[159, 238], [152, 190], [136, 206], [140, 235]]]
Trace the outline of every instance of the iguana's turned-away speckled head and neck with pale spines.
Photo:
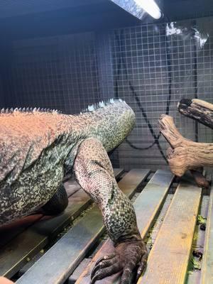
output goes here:
[[[99, 107], [102, 106], [102, 107]], [[97, 138], [107, 151], [118, 146], [135, 125], [135, 114], [123, 101], [90, 106], [89, 111], [70, 116], [72, 133], [86, 138]], [[68, 130], [69, 131], [69, 130]]]

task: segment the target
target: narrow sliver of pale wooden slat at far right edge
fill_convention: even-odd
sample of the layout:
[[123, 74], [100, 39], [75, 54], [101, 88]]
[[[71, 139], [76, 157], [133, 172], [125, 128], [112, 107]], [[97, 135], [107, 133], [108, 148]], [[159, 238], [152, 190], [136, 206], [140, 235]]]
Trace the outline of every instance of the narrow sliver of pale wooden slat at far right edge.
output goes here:
[[[213, 180], [213, 179], [212, 179]], [[211, 186], [209, 198], [209, 211], [207, 217], [207, 227], [205, 231], [204, 253], [202, 257], [202, 271], [200, 284], [213, 283], [213, 185]]]

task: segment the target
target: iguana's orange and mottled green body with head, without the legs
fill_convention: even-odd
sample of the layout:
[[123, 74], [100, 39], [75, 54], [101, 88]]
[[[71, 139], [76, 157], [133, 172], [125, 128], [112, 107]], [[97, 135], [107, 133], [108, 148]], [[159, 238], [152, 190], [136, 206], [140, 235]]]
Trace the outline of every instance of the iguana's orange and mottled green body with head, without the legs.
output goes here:
[[121, 101], [100, 106], [76, 116], [36, 109], [0, 114], [0, 224], [50, 200], [82, 141], [97, 138], [106, 151], [124, 141], [135, 123], [131, 108]]

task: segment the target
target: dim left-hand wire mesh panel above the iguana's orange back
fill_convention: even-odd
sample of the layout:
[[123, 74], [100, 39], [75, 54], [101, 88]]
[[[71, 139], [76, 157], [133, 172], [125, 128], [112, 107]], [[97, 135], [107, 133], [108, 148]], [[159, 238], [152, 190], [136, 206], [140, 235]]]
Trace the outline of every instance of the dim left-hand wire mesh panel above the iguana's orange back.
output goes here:
[[13, 107], [77, 113], [99, 101], [97, 78], [93, 33], [13, 44]]

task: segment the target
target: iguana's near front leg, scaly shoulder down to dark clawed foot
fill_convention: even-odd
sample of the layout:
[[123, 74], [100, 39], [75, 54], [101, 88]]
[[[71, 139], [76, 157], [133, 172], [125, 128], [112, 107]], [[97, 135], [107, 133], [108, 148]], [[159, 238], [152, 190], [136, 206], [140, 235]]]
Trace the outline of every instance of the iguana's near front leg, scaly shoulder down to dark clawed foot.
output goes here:
[[96, 264], [91, 283], [122, 271], [121, 284], [131, 282], [133, 271], [139, 277], [146, 266], [147, 251], [136, 224], [129, 199], [121, 192], [102, 144], [94, 138], [82, 142], [75, 158], [74, 172], [80, 186], [102, 211], [115, 252]]

